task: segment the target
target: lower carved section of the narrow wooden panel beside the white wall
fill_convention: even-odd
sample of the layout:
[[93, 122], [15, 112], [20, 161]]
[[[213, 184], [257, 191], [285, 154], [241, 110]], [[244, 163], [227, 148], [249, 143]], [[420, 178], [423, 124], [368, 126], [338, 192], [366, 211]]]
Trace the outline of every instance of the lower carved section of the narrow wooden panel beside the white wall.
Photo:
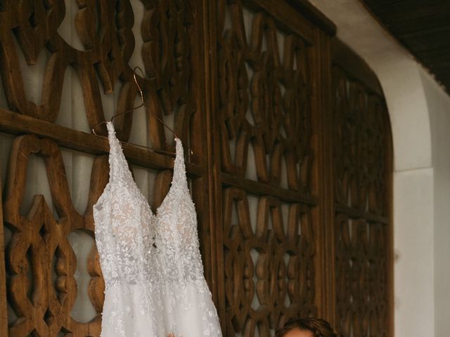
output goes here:
[[338, 214], [336, 294], [345, 336], [387, 335], [386, 225]]

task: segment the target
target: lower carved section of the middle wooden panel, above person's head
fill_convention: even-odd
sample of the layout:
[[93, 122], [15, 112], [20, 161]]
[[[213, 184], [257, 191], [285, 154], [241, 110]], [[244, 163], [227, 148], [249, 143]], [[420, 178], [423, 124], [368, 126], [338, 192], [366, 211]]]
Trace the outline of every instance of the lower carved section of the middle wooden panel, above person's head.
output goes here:
[[[233, 223], [234, 207], [238, 223]], [[288, 208], [283, 221], [279, 199], [259, 197], [252, 225], [245, 191], [224, 190], [226, 336], [255, 336], [256, 330], [270, 336], [270, 329], [290, 318], [317, 313], [311, 209]]]

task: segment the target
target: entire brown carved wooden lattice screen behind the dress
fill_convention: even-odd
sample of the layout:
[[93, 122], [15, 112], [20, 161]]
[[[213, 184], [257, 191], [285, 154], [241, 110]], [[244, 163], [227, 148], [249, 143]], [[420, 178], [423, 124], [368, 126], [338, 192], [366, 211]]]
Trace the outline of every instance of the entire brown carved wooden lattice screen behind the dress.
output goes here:
[[392, 336], [387, 111], [333, 32], [303, 0], [0, 0], [0, 336], [99, 336], [91, 128], [139, 105], [136, 65], [146, 106], [117, 136], [152, 209], [173, 160], [147, 147], [174, 150], [155, 117], [184, 141], [224, 336], [307, 315]]

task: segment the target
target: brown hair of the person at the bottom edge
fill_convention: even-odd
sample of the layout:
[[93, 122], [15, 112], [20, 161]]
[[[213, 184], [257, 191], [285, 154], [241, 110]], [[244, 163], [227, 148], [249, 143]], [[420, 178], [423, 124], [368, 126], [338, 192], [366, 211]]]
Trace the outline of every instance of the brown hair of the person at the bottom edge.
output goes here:
[[289, 321], [283, 328], [276, 331], [275, 336], [283, 337], [288, 331], [293, 329], [311, 331], [313, 337], [342, 337], [340, 333], [333, 329], [330, 323], [321, 318], [299, 318]]

